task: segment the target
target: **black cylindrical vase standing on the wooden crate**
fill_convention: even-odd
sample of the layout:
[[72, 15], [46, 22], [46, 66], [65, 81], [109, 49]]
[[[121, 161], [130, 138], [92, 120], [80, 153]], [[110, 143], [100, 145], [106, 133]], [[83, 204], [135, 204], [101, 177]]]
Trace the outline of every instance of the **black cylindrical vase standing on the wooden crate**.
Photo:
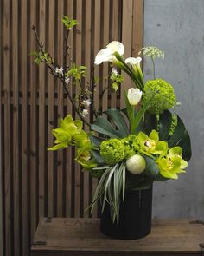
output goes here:
[[152, 187], [125, 192], [120, 201], [119, 222], [112, 223], [110, 207], [105, 205], [100, 218], [100, 230], [105, 235], [119, 240], [136, 240], [148, 235], [151, 230]]

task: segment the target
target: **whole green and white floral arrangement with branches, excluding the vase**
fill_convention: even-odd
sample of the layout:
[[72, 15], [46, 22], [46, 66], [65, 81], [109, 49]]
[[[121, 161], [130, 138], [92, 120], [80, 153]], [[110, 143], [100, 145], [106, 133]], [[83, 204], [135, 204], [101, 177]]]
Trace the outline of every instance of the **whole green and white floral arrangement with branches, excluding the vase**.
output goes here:
[[[103, 211], [105, 204], [109, 204], [112, 221], [118, 221], [119, 204], [121, 198], [125, 200], [125, 190], [145, 189], [154, 181], [178, 179], [178, 174], [185, 172], [191, 157], [190, 138], [182, 119], [175, 114], [179, 102], [176, 102], [173, 86], [155, 75], [155, 59], [164, 58], [162, 50], [145, 47], [139, 52], [153, 64], [154, 77], [146, 82], [140, 67], [142, 58], [124, 59], [122, 43], [113, 41], [99, 51], [95, 65], [110, 62], [112, 68], [110, 85], [105, 86], [104, 91], [109, 87], [115, 91], [123, 87], [121, 71], [131, 77], [132, 84], [130, 89], [124, 89], [126, 108], [109, 108], [101, 113], [94, 106], [97, 79], [92, 75], [91, 82], [82, 83], [86, 67], [77, 66], [68, 57], [67, 40], [77, 21], [64, 16], [62, 22], [67, 27], [63, 65], [44, 50], [35, 27], [39, 50], [31, 54], [37, 64], [43, 62], [51, 74], [61, 80], [80, 119], [73, 120], [72, 115], [62, 118], [58, 128], [53, 130], [54, 146], [48, 150], [76, 148], [75, 161], [99, 178], [90, 207], [100, 201]], [[74, 99], [69, 92], [72, 83], [80, 88], [80, 94]], [[92, 115], [91, 124], [87, 115]], [[83, 128], [84, 124], [90, 128], [89, 132]]]

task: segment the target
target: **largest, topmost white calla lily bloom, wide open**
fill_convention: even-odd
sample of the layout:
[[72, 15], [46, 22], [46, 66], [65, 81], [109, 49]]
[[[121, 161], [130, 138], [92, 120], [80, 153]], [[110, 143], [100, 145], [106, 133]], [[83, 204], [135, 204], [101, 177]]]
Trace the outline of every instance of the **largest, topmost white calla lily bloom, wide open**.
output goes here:
[[124, 54], [124, 45], [118, 41], [112, 41], [109, 43], [105, 49], [101, 49], [97, 56], [95, 57], [94, 63], [96, 65], [101, 64], [102, 62], [117, 62], [114, 53], [118, 52], [120, 56]]

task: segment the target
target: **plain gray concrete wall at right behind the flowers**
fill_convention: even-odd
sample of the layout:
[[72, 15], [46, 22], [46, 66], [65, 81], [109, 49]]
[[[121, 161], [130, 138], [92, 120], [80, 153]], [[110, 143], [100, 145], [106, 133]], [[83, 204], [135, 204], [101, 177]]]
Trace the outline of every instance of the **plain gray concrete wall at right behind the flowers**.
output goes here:
[[193, 150], [187, 174], [155, 183], [153, 216], [204, 220], [204, 0], [144, 0], [144, 45], [165, 51], [156, 76], [175, 86]]

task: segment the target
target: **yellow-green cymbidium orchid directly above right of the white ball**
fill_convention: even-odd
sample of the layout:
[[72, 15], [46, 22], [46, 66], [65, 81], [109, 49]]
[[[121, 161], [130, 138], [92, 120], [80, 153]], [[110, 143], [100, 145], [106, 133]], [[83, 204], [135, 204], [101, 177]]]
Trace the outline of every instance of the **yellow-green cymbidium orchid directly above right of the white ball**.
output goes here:
[[156, 130], [152, 130], [150, 135], [139, 132], [138, 141], [141, 148], [149, 154], [163, 154], [167, 152], [168, 144], [165, 141], [159, 141], [159, 135]]

